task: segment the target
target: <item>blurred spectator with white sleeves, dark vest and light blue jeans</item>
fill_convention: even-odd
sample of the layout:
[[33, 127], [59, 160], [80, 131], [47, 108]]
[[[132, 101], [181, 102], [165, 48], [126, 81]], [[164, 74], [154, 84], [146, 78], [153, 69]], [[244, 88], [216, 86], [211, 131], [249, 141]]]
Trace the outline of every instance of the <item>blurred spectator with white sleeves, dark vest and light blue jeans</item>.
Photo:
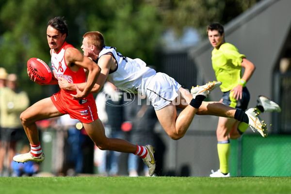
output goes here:
[[[124, 121], [122, 92], [111, 82], [106, 82], [103, 86], [103, 92], [96, 97], [96, 104], [99, 118], [104, 124], [106, 136], [124, 139], [121, 130]], [[98, 166], [100, 175], [118, 176], [120, 152], [100, 150], [95, 147], [95, 154], [95, 164]]]

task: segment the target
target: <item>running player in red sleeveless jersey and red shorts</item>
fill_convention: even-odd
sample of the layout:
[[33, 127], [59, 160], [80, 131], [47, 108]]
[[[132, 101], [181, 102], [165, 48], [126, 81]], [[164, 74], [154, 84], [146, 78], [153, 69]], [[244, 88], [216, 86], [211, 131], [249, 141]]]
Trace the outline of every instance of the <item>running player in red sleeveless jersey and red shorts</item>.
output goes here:
[[[78, 49], [69, 45], [65, 41], [67, 36], [68, 28], [64, 18], [57, 16], [49, 20], [47, 39], [51, 54], [53, 79], [47, 84], [58, 84], [58, 79], [62, 78], [72, 84], [85, 82], [84, 88], [80, 91], [75, 85], [77, 92], [61, 89], [58, 93], [36, 102], [21, 113], [20, 119], [30, 141], [31, 151], [16, 155], [13, 160], [16, 162], [42, 162], [45, 155], [40, 146], [35, 122], [69, 114], [71, 118], [82, 122], [84, 129], [99, 149], [140, 156], [149, 168], [149, 175], [152, 176], [155, 170], [155, 160], [151, 145], [138, 146], [122, 139], [105, 136], [104, 127], [97, 115], [95, 99], [90, 93], [100, 74], [100, 67]], [[87, 79], [84, 69], [88, 71]], [[29, 71], [28, 75], [32, 81], [43, 84], [36, 81]]]

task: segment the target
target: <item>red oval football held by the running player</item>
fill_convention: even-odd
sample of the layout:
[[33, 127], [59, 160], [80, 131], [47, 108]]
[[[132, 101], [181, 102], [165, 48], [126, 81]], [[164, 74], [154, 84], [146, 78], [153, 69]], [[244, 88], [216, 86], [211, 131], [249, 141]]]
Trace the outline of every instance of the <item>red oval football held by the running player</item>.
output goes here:
[[52, 73], [49, 66], [38, 58], [31, 58], [27, 61], [27, 68], [33, 74], [36, 81], [49, 83], [52, 79]]

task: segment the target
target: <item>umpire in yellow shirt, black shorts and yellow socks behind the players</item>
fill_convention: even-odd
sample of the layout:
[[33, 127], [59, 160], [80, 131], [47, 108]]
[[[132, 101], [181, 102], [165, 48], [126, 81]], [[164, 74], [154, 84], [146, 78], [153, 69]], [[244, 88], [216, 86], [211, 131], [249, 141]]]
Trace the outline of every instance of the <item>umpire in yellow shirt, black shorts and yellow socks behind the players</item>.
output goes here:
[[[245, 87], [256, 67], [239, 53], [238, 49], [225, 41], [224, 27], [220, 23], [212, 23], [207, 27], [212, 50], [212, 67], [217, 81], [222, 81], [220, 86], [224, 93], [220, 102], [236, 109], [247, 109], [250, 94]], [[242, 67], [245, 68], [242, 75]], [[229, 139], [236, 139], [248, 128], [246, 123], [238, 120], [219, 117], [216, 130], [217, 150], [220, 168], [212, 170], [210, 177], [230, 177], [228, 158], [230, 153]]]

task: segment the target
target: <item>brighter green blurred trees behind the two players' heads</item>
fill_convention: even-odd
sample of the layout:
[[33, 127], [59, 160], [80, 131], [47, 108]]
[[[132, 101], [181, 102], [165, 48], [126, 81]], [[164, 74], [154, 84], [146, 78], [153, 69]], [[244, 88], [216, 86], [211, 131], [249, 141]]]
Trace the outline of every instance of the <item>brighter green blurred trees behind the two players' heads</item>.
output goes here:
[[[17, 11], [16, 11], [17, 10]], [[32, 102], [49, 97], [57, 86], [39, 86], [27, 76], [27, 60], [37, 57], [49, 64], [47, 23], [65, 16], [68, 43], [81, 50], [87, 31], [103, 33], [106, 45], [131, 58], [154, 63], [154, 51], [162, 32], [157, 8], [143, 0], [1, 0], [0, 66], [19, 76], [20, 87]]]

